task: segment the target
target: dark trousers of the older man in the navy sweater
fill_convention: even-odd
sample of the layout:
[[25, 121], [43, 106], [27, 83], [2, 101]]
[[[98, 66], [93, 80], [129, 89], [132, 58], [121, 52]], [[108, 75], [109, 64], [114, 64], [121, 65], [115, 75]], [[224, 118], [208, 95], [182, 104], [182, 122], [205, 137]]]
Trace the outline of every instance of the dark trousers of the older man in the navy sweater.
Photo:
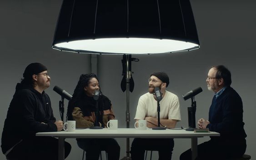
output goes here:
[[[246, 151], [246, 140], [209, 140], [197, 146], [196, 160], [226, 160], [239, 158]], [[191, 160], [191, 149], [180, 156], [180, 160]]]

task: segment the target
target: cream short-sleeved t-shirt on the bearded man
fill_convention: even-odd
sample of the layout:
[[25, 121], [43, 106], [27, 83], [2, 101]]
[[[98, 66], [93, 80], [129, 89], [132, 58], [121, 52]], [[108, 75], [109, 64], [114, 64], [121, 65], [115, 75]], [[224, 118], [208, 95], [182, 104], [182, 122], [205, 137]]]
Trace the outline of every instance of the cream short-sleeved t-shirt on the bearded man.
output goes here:
[[[153, 94], [141, 95], [134, 119], [144, 120], [145, 117], [157, 118], [157, 101]], [[166, 90], [160, 101], [160, 119], [181, 120], [180, 103], [177, 95]]]

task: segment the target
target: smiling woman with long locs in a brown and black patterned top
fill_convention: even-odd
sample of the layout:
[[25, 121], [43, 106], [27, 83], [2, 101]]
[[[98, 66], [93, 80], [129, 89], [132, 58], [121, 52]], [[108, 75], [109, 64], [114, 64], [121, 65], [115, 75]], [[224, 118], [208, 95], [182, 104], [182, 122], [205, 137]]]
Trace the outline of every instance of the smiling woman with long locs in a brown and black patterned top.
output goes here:
[[[106, 128], [109, 120], [115, 119], [111, 101], [101, 93], [98, 101], [98, 122], [95, 123], [95, 90], [100, 90], [99, 80], [94, 73], [82, 74], [68, 105], [68, 120], [76, 121], [76, 128], [90, 128], [99, 125]], [[78, 146], [85, 150], [86, 160], [98, 160], [101, 150], [105, 150], [108, 160], [119, 160], [120, 146], [112, 138], [77, 138]]]

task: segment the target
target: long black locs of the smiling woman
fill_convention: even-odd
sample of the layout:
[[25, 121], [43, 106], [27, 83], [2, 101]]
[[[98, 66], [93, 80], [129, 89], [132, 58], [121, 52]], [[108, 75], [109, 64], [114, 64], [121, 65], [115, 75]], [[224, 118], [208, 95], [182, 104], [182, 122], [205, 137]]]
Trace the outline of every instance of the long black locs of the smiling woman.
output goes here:
[[84, 88], [85, 86], [89, 85], [89, 82], [92, 78], [96, 78], [98, 80], [97, 75], [95, 75], [94, 73], [80, 75], [79, 81], [73, 93], [73, 97], [68, 104], [67, 120], [73, 120], [72, 111], [74, 110], [74, 106], [76, 105], [76, 102], [78, 102], [80, 99], [82, 99], [86, 95]]

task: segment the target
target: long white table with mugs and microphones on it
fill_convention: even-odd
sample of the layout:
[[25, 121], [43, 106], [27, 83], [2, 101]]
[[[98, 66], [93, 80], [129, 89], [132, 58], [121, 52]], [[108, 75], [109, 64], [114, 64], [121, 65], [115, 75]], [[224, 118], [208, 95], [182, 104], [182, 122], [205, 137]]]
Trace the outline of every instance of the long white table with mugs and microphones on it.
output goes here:
[[59, 160], [64, 160], [65, 138], [190, 138], [192, 160], [197, 156], [197, 138], [204, 136], [220, 136], [219, 133], [194, 133], [186, 130], [136, 130], [134, 128], [119, 128], [118, 130], [78, 129], [75, 132], [41, 132], [36, 136], [53, 136], [59, 139]]

